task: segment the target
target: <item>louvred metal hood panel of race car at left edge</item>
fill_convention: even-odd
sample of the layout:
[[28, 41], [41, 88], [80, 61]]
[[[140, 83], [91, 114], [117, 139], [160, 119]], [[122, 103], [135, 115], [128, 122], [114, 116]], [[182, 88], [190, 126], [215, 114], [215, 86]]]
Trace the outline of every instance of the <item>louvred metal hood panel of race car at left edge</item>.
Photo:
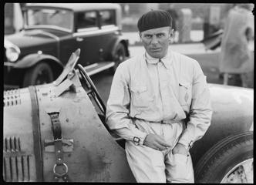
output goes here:
[[37, 181], [29, 89], [5, 91], [4, 99], [8, 96], [19, 96], [21, 101], [3, 108], [3, 179], [6, 182]]

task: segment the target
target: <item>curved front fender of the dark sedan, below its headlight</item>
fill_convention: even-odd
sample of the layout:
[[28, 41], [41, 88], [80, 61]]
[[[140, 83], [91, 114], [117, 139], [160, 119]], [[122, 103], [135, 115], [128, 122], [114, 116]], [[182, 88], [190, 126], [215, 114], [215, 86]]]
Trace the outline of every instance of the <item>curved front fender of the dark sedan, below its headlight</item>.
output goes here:
[[37, 53], [26, 55], [21, 60], [19, 60], [19, 62], [16, 62], [14, 67], [19, 69], [29, 68], [42, 60], [52, 60], [59, 67], [63, 68], [62, 62], [60, 62], [59, 59], [57, 59], [55, 56]]

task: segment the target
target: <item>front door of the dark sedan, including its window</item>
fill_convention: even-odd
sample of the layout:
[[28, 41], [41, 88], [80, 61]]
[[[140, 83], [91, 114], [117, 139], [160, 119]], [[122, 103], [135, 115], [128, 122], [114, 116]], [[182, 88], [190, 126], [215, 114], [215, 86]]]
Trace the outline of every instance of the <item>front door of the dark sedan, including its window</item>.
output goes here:
[[99, 21], [97, 12], [89, 10], [76, 14], [77, 47], [81, 49], [79, 63], [89, 66], [99, 61]]

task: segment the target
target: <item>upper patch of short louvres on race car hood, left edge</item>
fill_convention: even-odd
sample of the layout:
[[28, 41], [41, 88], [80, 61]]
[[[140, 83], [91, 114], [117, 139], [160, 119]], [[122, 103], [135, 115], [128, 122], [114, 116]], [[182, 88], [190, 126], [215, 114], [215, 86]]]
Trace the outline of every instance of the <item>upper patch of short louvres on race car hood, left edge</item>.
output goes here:
[[4, 92], [4, 106], [17, 106], [22, 103], [19, 89]]

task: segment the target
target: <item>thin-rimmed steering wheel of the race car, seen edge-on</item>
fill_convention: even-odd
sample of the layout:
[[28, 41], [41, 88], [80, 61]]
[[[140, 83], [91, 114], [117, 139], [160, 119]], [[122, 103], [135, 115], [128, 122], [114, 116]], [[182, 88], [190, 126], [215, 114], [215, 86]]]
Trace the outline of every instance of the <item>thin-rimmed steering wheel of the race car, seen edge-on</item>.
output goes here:
[[93, 99], [95, 100], [100, 111], [103, 113], [103, 115], [106, 115], [106, 106], [103, 103], [103, 99], [99, 96], [99, 93], [96, 87], [94, 86], [92, 79], [87, 75], [86, 70], [83, 68], [81, 64], [78, 64], [77, 66], [79, 69], [79, 73], [82, 76], [82, 79], [86, 82], [86, 88], [83, 86], [83, 89], [88, 89], [86, 90], [87, 95], [93, 96]]

